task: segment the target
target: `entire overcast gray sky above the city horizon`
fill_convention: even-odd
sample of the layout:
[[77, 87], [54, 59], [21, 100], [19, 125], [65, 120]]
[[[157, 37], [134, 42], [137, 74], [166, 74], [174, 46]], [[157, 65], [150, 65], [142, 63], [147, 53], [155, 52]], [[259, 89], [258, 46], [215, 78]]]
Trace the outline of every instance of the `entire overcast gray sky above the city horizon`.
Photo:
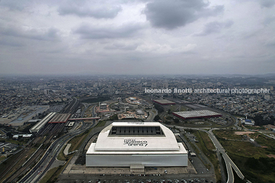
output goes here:
[[275, 73], [275, 0], [0, 0], [0, 74]]

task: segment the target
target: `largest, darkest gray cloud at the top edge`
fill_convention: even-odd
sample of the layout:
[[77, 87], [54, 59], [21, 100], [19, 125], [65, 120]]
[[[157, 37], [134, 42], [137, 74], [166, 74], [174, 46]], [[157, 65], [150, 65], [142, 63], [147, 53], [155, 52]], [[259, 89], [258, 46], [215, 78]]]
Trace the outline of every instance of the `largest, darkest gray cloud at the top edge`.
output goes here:
[[175, 29], [200, 17], [216, 16], [223, 11], [223, 6], [209, 7], [209, 3], [203, 0], [155, 0], [146, 5], [144, 13], [153, 27]]

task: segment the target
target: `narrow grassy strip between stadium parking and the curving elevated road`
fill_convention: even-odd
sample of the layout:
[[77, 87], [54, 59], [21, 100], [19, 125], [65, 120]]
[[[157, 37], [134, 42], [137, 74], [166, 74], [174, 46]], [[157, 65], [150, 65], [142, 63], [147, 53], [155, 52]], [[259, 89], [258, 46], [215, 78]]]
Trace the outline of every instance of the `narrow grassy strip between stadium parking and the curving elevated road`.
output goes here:
[[197, 140], [199, 140], [197, 146], [203, 151], [203, 153], [214, 166], [217, 181], [221, 180], [221, 169], [219, 165], [219, 160], [217, 157], [217, 153], [213, 151], [215, 149], [215, 146], [213, 145], [211, 139], [206, 132], [197, 131], [194, 133], [194, 135], [197, 137]]

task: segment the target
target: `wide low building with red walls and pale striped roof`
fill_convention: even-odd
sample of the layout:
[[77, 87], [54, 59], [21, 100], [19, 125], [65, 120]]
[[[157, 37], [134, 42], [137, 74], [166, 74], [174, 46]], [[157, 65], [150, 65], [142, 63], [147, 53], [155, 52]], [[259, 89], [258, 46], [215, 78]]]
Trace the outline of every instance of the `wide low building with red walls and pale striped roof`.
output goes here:
[[182, 119], [194, 119], [194, 118], [209, 118], [209, 117], [222, 117], [222, 114], [209, 111], [209, 110], [195, 110], [195, 111], [182, 111], [182, 112], [173, 112], [174, 116]]

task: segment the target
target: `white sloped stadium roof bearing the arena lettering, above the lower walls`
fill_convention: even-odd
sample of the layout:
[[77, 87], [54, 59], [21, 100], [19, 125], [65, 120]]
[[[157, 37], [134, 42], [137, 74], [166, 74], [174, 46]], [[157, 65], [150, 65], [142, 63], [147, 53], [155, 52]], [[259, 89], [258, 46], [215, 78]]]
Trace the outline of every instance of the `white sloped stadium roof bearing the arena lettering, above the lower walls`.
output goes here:
[[[117, 130], [120, 130], [117, 133]], [[113, 132], [116, 130], [115, 132]], [[128, 131], [127, 131], [128, 130]], [[130, 133], [132, 130], [132, 133]], [[140, 133], [143, 131], [142, 133]], [[179, 151], [180, 147], [171, 130], [160, 123], [114, 122], [101, 131], [93, 151]], [[185, 151], [185, 150], [184, 150]], [[164, 152], [165, 153], [165, 152]]]

